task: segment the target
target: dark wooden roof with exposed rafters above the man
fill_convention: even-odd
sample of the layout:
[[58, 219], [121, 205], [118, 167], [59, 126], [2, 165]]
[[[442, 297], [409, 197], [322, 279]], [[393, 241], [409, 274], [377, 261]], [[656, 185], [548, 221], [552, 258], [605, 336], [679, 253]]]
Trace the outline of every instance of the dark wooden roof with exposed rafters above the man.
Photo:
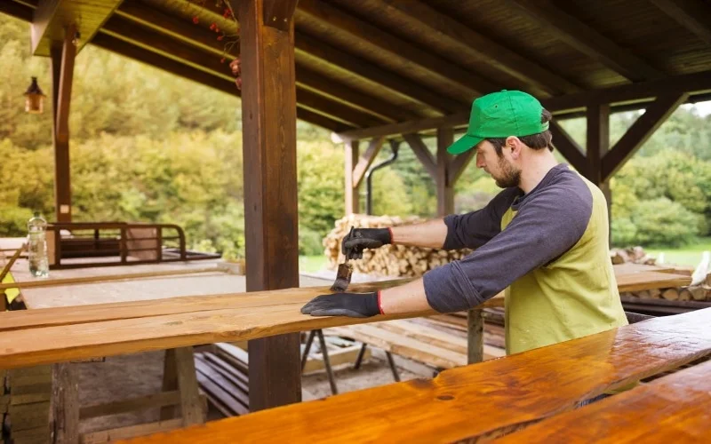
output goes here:
[[[6, 0], [0, 12], [32, 21], [38, 2]], [[226, 51], [210, 25], [238, 31], [216, 2], [64, 3], [84, 14], [78, 51], [95, 44], [239, 94], [220, 63], [239, 45]], [[298, 117], [346, 135], [445, 116], [461, 125], [472, 99], [500, 89], [531, 92], [558, 115], [611, 87], [629, 96], [613, 110], [653, 99], [660, 85], [687, 84], [688, 100], [711, 99], [707, 0], [300, 0], [294, 23]], [[36, 55], [49, 55], [52, 32], [33, 36]]]

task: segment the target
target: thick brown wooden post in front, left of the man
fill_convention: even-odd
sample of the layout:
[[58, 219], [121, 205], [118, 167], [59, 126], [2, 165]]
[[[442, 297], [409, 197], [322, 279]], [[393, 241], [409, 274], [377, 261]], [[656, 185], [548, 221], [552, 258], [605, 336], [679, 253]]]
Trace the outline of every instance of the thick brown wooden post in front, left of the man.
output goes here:
[[[239, 2], [247, 291], [299, 287], [296, 0]], [[300, 335], [249, 342], [250, 411], [301, 400]]]

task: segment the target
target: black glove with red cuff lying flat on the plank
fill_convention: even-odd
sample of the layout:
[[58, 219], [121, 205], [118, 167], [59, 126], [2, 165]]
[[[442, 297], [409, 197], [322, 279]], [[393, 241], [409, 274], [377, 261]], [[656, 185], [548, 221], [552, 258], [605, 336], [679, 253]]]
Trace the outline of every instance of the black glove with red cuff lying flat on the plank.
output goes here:
[[317, 296], [301, 307], [301, 313], [369, 318], [380, 313], [378, 293], [332, 293]]

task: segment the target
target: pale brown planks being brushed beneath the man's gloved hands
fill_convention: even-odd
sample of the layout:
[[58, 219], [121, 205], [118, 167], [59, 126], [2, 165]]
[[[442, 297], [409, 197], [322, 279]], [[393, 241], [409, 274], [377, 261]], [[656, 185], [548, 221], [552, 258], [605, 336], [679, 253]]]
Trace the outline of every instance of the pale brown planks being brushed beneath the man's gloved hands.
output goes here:
[[[351, 289], [371, 291], [393, 284], [393, 281], [388, 282], [353, 285]], [[0, 313], [0, 325], [12, 321], [14, 326], [0, 335], [0, 369], [255, 339], [435, 313], [427, 311], [365, 319], [315, 317], [300, 313], [301, 306], [311, 298], [329, 293], [328, 287], [311, 287], [255, 291], [228, 297], [176, 297], [153, 302]], [[495, 298], [483, 306], [500, 306], [502, 302], [502, 299]], [[211, 308], [201, 311], [201, 306]], [[87, 314], [83, 314], [84, 311]], [[26, 321], [23, 315], [34, 321]], [[47, 322], [54, 325], [44, 327]], [[58, 323], [64, 325], [56, 325]]]

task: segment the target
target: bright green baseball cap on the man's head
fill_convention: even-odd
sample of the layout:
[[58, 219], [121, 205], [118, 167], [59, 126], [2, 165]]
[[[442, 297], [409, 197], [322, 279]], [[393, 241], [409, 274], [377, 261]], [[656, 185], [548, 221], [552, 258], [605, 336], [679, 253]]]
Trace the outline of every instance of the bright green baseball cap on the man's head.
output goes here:
[[475, 147], [483, 139], [530, 136], [548, 129], [540, 123], [543, 106], [538, 99], [523, 91], [491, 92], [472, 103], [467, 134], [447, 148], [459, 155]]

